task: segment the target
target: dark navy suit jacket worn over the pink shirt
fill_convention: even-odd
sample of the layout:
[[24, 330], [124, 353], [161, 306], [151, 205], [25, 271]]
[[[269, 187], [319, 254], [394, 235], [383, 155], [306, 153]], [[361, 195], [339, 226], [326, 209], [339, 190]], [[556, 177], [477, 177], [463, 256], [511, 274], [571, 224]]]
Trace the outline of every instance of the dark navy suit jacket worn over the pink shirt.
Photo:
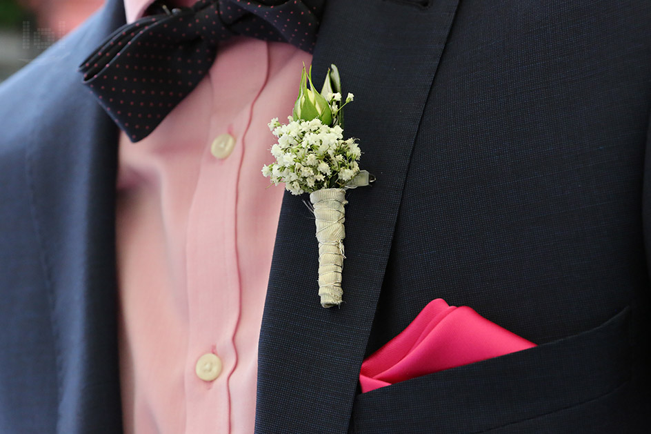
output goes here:
[[[1, 433], [121, 432], [117, 128], [76, 69], [123, 21], [108, 0], [0, 86]], [[339, 309], [283, 201], [258, 433], [648, 432], [650, 23], [648, 1], [328, 0], [314, 76], [339, 66], [377, 182], [348, 195]], [[540, 345], [360, 394], [437, 297]]]

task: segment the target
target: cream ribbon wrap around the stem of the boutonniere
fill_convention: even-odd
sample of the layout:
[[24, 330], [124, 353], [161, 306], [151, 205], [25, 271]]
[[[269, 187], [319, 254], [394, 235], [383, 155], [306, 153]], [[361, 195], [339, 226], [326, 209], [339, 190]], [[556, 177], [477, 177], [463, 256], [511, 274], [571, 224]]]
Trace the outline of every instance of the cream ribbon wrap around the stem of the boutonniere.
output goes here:
[[345, 190], [324, 188], [310, 193], [317, 221], [319, 241], [319, 296], [321, 306], [330, 308], [341, 304], [341, 271], [343, 270], [343, 239], [345, 230]]

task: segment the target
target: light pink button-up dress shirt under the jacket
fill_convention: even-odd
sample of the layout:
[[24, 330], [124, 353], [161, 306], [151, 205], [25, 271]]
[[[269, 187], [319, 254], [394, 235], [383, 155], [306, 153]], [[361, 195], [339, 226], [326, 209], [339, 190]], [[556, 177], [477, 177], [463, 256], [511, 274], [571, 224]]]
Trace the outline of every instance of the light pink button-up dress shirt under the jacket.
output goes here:
[[[149, 3], [125, 0], [128, 21]], [[310, 61], [288, 44], [230, 39], [157, 130], [137, 144], [121, 136], [126, 433], [253, 432], [258, 335], [283, 195], [261, 175], [274, 143], [267, 123], [291, 114]], [[208, 356], [201, 379], [197, 362], [210, 354], [221, 373]]]

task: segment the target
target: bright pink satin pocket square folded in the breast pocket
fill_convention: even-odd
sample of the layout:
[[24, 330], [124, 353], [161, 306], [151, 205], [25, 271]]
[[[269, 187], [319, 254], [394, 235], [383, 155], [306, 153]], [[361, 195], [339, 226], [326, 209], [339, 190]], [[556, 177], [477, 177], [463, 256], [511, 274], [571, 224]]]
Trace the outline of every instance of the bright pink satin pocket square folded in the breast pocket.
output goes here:
[[362, 393], [536, 346], [468, 306], [430, 302], [405, 330], [361, 365]]

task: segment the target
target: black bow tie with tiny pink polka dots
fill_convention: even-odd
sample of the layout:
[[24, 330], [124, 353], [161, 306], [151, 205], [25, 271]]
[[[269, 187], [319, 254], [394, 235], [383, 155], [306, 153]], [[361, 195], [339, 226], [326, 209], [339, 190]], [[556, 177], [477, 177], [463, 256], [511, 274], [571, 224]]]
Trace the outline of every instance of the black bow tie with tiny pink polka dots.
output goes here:
[[324, 0], [199, 0], [116, 30], [81, 63], [83, 83], [131, 141], [147, 137], [212, 66], [234, 34], [312, 52]]

